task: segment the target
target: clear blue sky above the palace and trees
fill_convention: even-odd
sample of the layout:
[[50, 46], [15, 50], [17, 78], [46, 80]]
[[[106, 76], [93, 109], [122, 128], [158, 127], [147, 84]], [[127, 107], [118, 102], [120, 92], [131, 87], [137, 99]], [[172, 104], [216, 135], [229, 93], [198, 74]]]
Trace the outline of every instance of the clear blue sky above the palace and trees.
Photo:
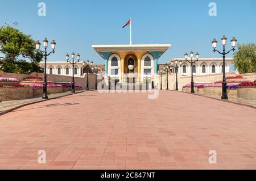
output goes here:
[[[64, 61], [65, 54], [81, 54], [82, 60], [104, 60], [92, 44], [129, 44], [133, 20], [133, 44], [172, 44], [160, 58], [163, 64], [194, 50], [200, 57], [220, 57], [211, 41], [223, 35], [238, 43], [256, 42], [255, 0], [0, 0], [0, 24], [19, 23], [19, 30], [42, 42], [57, 43], [49, 61]], [[46, 3], [46, 16], [38, 16], [38, 3]], [[210, 2], [217, 4], [217, 16], [209, 16]], [[228, 41], [229, 43], [230, 41]], [[220, 43], [218, 44], [220, 45]], [[218, 47], [221, 48], [220, 46]], [[230, 48], [230, 44], [228, 44]], [[230, 54], [229, 56], [232, 56]]]

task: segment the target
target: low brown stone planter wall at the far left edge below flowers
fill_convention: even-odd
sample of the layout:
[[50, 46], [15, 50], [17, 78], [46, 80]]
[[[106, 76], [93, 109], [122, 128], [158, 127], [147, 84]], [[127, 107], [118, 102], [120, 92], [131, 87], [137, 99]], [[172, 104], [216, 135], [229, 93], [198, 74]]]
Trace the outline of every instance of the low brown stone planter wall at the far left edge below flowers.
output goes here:
[[33, 97], [32, 87], [0, 87], [0, 100], [29, 99]]

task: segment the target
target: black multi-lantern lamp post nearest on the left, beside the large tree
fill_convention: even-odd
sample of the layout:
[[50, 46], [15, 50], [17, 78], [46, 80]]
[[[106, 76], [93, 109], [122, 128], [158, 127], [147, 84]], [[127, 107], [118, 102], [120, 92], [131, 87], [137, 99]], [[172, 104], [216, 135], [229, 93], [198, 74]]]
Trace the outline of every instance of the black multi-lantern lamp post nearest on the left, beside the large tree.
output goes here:
[[[52, 40], [51, 42], [51, 48], [52, 48], [52, 52], [47, 53], [47, 47], [48, 47], [48, 40], [46, 38], [44, 38], [43, 40], [43, 44], [44, 44], [44, 51], [43, 51], [43, 56], [44, 56], [44, 82], [43, 82], [43, 99], [48, 99], [48, 95], [47, 95], [47, 75], [46, 75], [46, 61], [47, 61], [47, 57], [51, 54], [51, 53], [55, 53], [55, 46], [56, 43], [54, 40]], [[40, 50], [40, 41], [36, 41], [36, 50]]]

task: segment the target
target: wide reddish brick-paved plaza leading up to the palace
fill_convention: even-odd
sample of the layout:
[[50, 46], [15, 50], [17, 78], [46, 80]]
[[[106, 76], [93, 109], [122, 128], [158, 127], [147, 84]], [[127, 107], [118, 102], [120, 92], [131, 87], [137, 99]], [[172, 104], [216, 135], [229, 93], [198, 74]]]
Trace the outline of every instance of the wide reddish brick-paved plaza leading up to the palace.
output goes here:
[[82, 92], [0, 116], [0, 169], [256, 169], [255, 117], [183, 92]]

